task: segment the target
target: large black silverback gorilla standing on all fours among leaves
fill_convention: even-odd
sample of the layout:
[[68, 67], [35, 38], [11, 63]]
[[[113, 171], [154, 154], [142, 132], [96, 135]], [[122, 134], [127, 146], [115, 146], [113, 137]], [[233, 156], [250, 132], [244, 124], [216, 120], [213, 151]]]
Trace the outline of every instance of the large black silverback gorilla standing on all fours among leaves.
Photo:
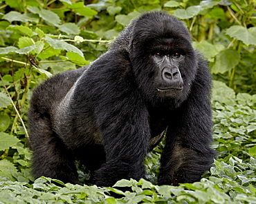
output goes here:
[[145, 156], [166, 130], [158, 184], [199, 181], [214, 158], [207, 63], [183, 23], [148, 12], [88, 68], [39, 85], [30, 101], [33, 172], [78, 183], [75, 159], [93, 183], [145, 178]]

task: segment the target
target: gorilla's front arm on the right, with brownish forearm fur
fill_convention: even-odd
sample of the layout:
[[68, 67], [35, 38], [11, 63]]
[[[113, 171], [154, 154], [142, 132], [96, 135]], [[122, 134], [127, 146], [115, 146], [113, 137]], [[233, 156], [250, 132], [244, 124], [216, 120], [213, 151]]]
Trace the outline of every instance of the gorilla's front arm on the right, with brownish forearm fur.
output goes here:
[[200, 181], [201, 174], [210, 170], [215, 155], [210, 148], [210, 79], [208, 68], [199, 62], [188, 99], [174, 110], [167, 128], [159, 185]]

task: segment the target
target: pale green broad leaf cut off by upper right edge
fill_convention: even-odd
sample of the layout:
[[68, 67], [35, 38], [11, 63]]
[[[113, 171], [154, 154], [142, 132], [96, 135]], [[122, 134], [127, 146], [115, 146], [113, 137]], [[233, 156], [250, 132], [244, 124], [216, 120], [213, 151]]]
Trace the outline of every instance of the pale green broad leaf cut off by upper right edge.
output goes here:
[[255, 33], [243, 26], [231, 26], [226, 30], [226, 34], [242, 41], [246, 45], [256, 45]]

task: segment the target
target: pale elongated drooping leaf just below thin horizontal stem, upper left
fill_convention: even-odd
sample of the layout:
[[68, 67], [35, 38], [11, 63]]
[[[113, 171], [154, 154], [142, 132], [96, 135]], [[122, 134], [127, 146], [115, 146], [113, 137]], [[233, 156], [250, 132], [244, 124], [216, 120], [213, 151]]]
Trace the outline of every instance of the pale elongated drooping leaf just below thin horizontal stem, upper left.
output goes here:
[[75, 52], [80, 54], [81, 57], [84, 56], [81, 50], [76, 48], [74, 45], [68, 44], [65, 41], [60, 41], [57, 39], [52, 39], [51, 37], [46, 37], [46, 41], [51, 45], [54, 49], [66, 50], [68, 52]]

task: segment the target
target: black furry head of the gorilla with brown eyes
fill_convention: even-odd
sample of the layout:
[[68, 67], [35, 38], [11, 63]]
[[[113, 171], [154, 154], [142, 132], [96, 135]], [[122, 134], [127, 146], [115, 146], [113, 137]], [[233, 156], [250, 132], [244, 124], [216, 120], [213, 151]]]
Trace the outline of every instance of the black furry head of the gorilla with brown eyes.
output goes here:
[[149, 12], [132, 21], [114, 41], [113, 49], [126, 46], [145, 98], [156, 105], [172, 99], [179, 106], [190, 92], [197, 57], [188, 29], [165, 12]]

